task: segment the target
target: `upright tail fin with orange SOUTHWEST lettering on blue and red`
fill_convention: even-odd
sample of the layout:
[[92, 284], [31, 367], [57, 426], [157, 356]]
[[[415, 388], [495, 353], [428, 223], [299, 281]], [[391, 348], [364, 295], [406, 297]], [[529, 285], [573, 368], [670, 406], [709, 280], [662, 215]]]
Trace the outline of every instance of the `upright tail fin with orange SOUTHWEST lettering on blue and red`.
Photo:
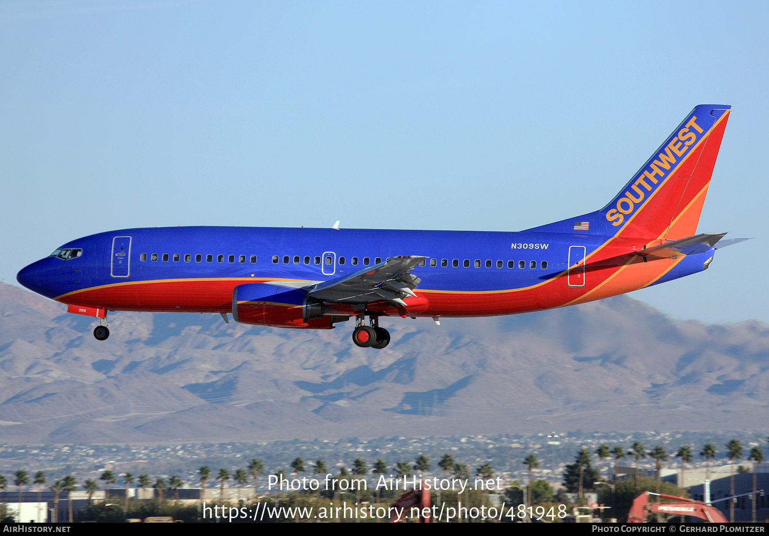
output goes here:
[[530, 231], [677, 240], [697, 232], [731, 106], [700, 104], [606, 207]]

